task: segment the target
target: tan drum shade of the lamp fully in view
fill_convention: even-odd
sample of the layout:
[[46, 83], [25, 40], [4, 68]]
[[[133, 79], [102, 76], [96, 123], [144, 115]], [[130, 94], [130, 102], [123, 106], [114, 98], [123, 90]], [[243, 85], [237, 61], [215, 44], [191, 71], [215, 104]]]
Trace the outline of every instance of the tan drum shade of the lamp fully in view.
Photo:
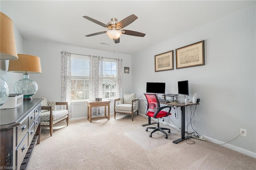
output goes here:
[[8, 71], [14, 73], [42, 73], [40, 58], [34, 55], [18, 54], [18, 59], [10, 60]]

